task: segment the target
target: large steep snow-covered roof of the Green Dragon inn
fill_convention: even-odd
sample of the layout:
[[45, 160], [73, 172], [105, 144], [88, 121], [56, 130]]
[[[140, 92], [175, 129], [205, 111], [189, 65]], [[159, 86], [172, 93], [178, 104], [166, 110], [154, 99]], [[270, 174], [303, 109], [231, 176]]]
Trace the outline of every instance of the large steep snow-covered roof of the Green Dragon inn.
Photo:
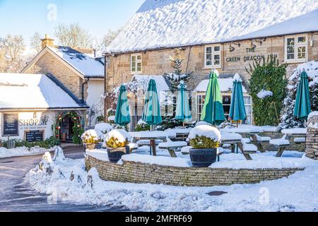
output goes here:
[[106, 52], [318, 30], [317, 9], [317, 0], [146, 0]]

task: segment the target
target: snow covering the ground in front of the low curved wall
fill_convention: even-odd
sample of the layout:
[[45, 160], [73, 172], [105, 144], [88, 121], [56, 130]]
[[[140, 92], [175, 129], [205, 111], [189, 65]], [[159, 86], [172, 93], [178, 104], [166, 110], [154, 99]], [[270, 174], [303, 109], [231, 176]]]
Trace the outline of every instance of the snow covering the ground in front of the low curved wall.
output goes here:
[[[46, 162], [46, 163], [45, 163]], [[318, 162], [288, 178], [259, 184], [178, 187], [105, 182], [84, 160], [51, 160], [31, 170], [26, 182], [59, 201], [125, 207], [132, 211], [312, 211], [318, 210]], [[71, 180], [72, 179], [72, 180]], [[222, 196], [209, 196], [223, 191]]]

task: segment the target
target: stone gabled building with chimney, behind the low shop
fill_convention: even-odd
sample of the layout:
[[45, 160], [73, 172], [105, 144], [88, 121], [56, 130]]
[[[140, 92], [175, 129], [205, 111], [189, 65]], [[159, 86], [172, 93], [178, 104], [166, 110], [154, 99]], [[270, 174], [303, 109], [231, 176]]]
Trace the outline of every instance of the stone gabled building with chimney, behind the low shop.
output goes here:
[[49, 35], [42, 39], [42, 50], [21, 73], [42, 73], [54, 77], [73, 95], [90, 107], [86, 126], [94, 126], [104, 116], [104, 59], [93, 49], [54, 45]]

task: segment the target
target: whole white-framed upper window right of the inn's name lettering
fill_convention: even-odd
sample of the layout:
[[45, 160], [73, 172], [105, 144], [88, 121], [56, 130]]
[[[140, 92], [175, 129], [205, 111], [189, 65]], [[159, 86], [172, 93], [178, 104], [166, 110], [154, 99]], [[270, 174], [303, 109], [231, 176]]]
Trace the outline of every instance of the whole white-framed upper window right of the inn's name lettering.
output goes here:
[[285, 61], [305, 62], [307, 59], [307, 36], [285, 37]]

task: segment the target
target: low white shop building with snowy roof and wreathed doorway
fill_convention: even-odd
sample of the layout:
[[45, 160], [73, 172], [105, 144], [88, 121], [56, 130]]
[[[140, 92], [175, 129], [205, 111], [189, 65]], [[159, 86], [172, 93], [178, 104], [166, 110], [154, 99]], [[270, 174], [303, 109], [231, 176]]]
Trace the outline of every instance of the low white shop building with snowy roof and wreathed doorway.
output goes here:
[[87, 111], [88, 106], [52, 76], [0, 73], [0, 141], [56, 136], [71, 142], [81, 136]]

